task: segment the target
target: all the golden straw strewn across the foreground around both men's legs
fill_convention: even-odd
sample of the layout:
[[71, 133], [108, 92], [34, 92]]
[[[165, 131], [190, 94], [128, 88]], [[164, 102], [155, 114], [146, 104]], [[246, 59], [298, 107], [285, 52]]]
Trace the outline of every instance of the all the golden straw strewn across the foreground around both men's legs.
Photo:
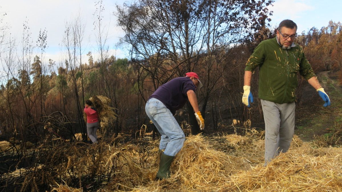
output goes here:
[[[217, 138], [190, 135], [171, 165], [171, 178], [155, 181], [158, 141], [107, 145], [103, 165], [118, 157], [115, 178], [105, 191], [342, 191], [342, 148], [317, 148], [294, 136], [288, 152], [266, 167], [264, 132]], [[219, 141], [215, 143], [215, 140]], [[223, 141], [223, 142], [222, 142]], [[231, 150], [220, 150], [230, 147]], [[111, 151], [112, 152], [111, 152]], [[115, 153], [114, 153], [115, 152]], [[55, 190], [58, 191], [57, 188]], [[77, 189], [70, 189], [70, 191]], [[68, 191], [63, 186], [61, 191]]]

